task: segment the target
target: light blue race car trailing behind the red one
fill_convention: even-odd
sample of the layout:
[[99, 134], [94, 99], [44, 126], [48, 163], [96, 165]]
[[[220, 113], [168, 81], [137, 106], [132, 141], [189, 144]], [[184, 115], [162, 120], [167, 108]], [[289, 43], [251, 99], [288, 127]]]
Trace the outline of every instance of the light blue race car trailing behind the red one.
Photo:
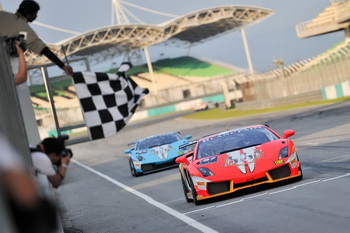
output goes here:
[[135, 147], [124, 151], [128, 154], [131, 174], [139, 176], [146, 172], [177, 166], [175, 159], [188, 152], [186, 147], [179, 149], [179, 146], [189, 143], [190, 138], [192, 135], [186, 135], [184, 139], [180, 133], [169, 132], [131, 143], [135, 144]]

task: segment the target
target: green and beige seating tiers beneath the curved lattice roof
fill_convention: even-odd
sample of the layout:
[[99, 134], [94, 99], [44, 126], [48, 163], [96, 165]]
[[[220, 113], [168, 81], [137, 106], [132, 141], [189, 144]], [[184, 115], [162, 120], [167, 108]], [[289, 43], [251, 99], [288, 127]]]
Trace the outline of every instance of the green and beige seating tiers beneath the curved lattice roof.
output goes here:
[[[233, 70], [219, 65], [211, 64], [193, 57], [178, 57], [173, 59], [163, 59], [153, 63], [154, 78], [159, 91], [167, 91], [168, 89], [176, 89], [194, 84], [201, 84], [209, 80], [222, 79], [225, 77], [234, 77], [242, 71], [240, 69]], [[116, 73], [117, 69], [109, 70], [108, 73]], [[131, 78], [141, 87], [148, 88], [152, 91], [154, 86], [148, 72], [147, 65], [134, 66], [127, 72]], [[202, 84], [203, 85], [203, 84]], [[32, 96], [33, 105], [37, 108], [50, 108], [49, 99], [47, 97], [44, 85], [32, 85], [29, 87]], [[211, 88], [213, 89], [213, 88]], [[67, 106], [76, 106], [76, 93], [71, 80], [60, 80], [52, 83], [53, 97], [57, 108], [65, 108]], [[221, 90], [214, 90], [219, 93]], [[192, 96], [196, 96], [192, 93]], [[147, 98], [147, 97], [146, 97]], [[147, 101], [146, 101], [147, 102]], [[175, 102], [175, 101], [170, 101]], [[151, 104], [144, 104], [143, 107], [154, 107]]]

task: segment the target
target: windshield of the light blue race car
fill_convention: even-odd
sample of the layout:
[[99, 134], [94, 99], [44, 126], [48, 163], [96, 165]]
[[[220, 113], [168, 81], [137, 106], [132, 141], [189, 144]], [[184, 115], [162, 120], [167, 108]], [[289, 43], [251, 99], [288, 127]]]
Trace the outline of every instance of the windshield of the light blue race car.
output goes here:
[[156, 146], [166, 145], [183, 140], [177, 133], [161, 134], [149, 138], [141, 139], [137, 142], [136, 150], [144, 150]]

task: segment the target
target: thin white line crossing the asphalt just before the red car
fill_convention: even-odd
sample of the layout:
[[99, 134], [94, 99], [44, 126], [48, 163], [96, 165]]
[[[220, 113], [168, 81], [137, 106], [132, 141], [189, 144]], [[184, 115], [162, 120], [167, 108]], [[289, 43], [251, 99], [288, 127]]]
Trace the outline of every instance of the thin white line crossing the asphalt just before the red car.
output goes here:
[[309, 186], [309, 185], [312, 185], [312, 184], [315, 184], [315, 183], [327, 182], [327, 181], [331, 181], [331, 180], [335, 180], [335, 179], [344, 178], [344, 177], [347, 177], [347, 176], [350, 176], [350, 173], [346, 173], [346, 174], [344, 174], [344, 175], [340, 175], [340, 176], [336, 176], [336, 177], [332, 177], [332, 178], [328, 178], [328, 179], [324, 179], [324, 180], [314, 180], [314, 181], [311, 181], [311, 182], [298, 184], [298, 185], [295, 185], [295, 186], [293, 186], [293, 187], [291, 187], [291, 188], [286, 188], [286, 189], [282, 189], [282, 190], [275, 191], [275, 192], [267, 192], [267, 193], [262, 193], [262, 194], [250, 196], [250, 197], [245, 197], [245, 198], [241, 198], [241, 199], [239, 199], [239, 200], [237, 200], [237, 201], [225, 203], [225, 204], [222, 204], [222, 205], [208, 206], [208, 207], [205, 207], [205, 208], [202, 208], [202, 209], [197, 209], [197, 210], [189, 211], [189, 212], [186, 212], [186, 213], [184, 213], [184, 214], [185, 214], [185, 215], [188, 215], [188, 214], [193, 214], [193, 213], [196, 213], [196, 212], [206, 211], [206, 210], [208, 210], [208, 209], [221, 208], [221, 207], [224, 207], [224, 206], [237, 204], [237, 203], [240, 203], [240, 202], [249, 200], [249, 199], [254, 199], [254, 198], [258, 198], [258, 197], [266, 196], [266, 195], [274, 195], [274, 194], [278, 194], [278, 193], [290, 191], [290, 190], [292, 190], [292, 189], [296, 189], [296, 188], [299, 188], [299, 187], [301, 187], [301, 186]]

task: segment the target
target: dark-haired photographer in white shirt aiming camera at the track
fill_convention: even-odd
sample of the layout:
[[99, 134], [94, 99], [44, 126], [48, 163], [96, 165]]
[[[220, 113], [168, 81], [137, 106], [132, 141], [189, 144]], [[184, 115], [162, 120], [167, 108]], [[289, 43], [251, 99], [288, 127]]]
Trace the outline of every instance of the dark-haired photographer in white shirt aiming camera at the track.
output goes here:
[[58, 188], [66, 175], [71, 157], [71, 150], [65, 148], [66, 138], [45, 138], [36, 149], [32, 150], [34, 168], [47, 176], [54, 188]]

